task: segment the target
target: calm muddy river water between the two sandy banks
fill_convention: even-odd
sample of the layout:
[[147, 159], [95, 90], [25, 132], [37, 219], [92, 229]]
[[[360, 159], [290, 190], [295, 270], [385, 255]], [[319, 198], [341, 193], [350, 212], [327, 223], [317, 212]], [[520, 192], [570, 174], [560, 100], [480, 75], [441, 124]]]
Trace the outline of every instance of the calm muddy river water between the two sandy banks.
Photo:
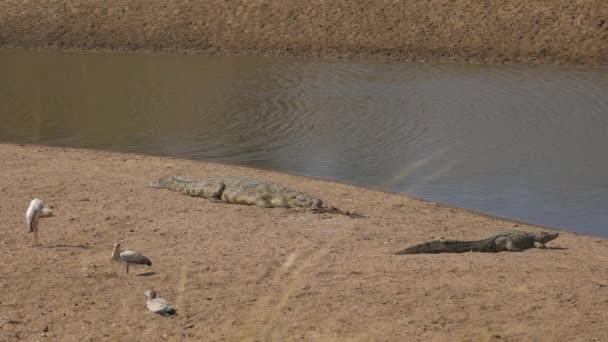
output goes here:
[[608, 237], [608, 70], [0, 54], [0, 140], [172, 155]]

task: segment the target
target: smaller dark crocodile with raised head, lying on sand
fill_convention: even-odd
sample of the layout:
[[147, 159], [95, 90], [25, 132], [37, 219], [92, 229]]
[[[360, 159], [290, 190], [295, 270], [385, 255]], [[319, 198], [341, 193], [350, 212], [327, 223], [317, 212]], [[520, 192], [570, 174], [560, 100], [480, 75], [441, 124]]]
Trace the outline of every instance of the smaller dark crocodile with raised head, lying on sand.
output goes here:
[[545, 244], [556, 239], [559, 233], [524, 232], [507, 230], [483, 240], [433, 240], [408, 247], [395, 254], [465, 253], [465, 252], [521, 252], [528, 248], [547, 248]]

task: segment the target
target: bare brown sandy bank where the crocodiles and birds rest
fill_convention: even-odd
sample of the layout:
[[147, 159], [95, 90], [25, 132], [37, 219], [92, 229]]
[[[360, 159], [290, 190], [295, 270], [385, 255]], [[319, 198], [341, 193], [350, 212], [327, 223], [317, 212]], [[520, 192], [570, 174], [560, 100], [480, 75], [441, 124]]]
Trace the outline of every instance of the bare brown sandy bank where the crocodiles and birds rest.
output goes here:
[[[600, 341], [608, 241], [548, 250], [394, 255], [431, 238], [540, 228], [344, 184], [249, 168], [0, 144], [0, 340]], [[163, 175], [269, 178], [367, 216], [215, 204], [144, 187]], [[32, 247], [25, 210], [55, 217]], [[153, 260], [127, 275], [112, 244]], [[144, 290], [178, 315], [145, 308]], [[47, 337], [42, 337], [48, 327]]]

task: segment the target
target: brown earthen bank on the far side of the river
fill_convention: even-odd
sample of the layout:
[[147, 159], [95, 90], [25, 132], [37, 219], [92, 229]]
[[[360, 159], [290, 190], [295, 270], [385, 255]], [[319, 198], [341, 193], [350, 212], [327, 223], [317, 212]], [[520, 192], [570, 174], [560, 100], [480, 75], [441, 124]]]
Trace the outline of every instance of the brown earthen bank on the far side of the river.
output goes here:
[[603, 0], [19, 1], [3, 48], [608, 63]]

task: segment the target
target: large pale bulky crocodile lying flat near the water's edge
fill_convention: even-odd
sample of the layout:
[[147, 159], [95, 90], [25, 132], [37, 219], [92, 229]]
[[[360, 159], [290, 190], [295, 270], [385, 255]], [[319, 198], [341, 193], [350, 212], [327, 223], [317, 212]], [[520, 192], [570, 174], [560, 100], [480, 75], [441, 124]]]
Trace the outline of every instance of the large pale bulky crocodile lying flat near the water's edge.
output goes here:
[[323, 206], [323, 201], [305, 192], [269, 180], [248, 177], [192, 179], [169, 176], [148, 183], [146, 186], [179, 191], [186, 195], [231, 204], [316, 209]]

